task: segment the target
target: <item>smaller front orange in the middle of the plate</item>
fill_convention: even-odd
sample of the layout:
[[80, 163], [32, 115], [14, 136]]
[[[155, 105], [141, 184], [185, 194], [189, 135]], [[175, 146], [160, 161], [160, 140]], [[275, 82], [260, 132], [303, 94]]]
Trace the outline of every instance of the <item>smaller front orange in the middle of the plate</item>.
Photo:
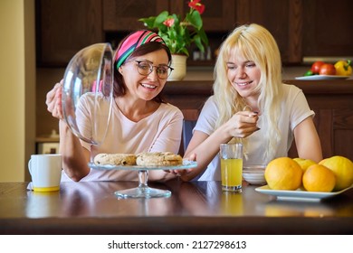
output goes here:
[[336, 176], [328, 167], [313, 164], [302, 176], [302, 183], [308, 192], [332, 192]]

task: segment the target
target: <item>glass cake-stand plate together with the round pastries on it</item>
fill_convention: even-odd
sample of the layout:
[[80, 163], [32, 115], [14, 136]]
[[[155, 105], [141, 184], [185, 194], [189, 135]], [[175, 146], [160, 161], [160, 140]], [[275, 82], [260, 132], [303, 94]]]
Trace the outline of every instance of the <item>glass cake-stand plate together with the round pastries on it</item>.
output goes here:
[[185, 170], [195, 168], [195, 161], [183, 159], [171, 152], [134, 154], [99, 154], [89, 163], [99, 170]]

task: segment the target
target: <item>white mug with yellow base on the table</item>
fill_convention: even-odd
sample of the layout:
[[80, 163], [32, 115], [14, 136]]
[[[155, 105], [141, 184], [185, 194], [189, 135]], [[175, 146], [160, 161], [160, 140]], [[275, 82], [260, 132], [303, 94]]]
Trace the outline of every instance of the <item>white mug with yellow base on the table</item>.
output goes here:
[[53, 192], [60, 190], [62, 179], [62, 155], [31, 155], [28, 169], [32, 176], [34, 192]]

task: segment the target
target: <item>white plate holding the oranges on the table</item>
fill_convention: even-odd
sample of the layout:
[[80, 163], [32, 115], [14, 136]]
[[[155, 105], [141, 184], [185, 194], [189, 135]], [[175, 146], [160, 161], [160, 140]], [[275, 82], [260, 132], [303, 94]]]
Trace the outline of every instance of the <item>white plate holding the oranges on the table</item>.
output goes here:
[[342, 192], [346, 192], [348, 189], [353, 188], [353, 185], [343, 189], [339, 192], [307, 192], [307, 191], [276, 191], [271, 190], [268, 185], [263, 185], [255, 189], [256, 192], [262, 192], [264, 194], [269, 194], [276, 196], [278, 200], [284, 201], [321, 201], [336, 195], [339, 195]]

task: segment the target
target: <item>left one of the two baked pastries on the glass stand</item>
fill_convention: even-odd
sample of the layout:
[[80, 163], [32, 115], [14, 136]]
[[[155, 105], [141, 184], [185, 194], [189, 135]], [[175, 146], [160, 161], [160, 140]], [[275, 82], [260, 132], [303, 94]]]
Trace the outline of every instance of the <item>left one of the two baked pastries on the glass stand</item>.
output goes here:
[[97, 165], [136, 165], [134, 154], [99, 154], [94, 157]]

